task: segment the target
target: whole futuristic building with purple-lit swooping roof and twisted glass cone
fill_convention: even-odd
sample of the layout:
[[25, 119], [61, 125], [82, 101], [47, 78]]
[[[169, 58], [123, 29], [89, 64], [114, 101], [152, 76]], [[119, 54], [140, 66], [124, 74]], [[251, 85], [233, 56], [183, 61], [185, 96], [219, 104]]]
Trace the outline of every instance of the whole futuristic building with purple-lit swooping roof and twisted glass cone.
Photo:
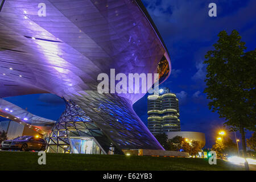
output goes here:
[[142, 2], [43, 2], [42, 14], [40, 1], [2, 1], [0, 97], [52, 93], [66, 108], [50, 121], [2, 101], [0, 114], [45, 135], [47, 152], [164, 150], [133, 110], [145, 93], [97, 91], [98, 75], [110, 69], [159, 73], [159, 84], [170, 75], [168, 51]]

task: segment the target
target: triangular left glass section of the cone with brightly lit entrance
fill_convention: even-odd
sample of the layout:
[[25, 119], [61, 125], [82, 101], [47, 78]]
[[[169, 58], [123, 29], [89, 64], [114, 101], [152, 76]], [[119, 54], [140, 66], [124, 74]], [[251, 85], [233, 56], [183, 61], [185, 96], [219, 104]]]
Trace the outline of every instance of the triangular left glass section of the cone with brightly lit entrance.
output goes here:
[[[96, 142], [96, 138], [105, 149]], [[66, 103], [66, 110], [46, 140], [47, 152], [56, 153], [106, 154], [112, 147], [102, 131], [72, 101]]]

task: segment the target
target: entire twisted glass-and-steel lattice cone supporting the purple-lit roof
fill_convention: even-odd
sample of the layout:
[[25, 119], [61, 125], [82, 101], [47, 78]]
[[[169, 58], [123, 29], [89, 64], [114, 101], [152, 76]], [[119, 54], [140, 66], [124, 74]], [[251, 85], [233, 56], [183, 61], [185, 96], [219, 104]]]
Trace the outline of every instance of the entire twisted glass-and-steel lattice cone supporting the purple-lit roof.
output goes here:
[[122, 154], [123, 149], [163, 150], [129, 100], [88, 93], [90, 97], [66, 101], [64, 113], [46, 138], [47, 152]]

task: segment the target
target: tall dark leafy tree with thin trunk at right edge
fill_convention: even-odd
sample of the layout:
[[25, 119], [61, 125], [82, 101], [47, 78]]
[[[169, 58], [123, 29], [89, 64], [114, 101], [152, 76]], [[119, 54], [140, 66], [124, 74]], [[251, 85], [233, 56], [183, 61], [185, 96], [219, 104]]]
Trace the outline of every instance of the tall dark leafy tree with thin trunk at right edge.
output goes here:
[[[205, 55], [207, 64], [208, 106], [225, 118], [225, 125], [239, 130], [242, 135], [243, 154], [246, 155], [245, 129], [255, 131], [256, 51], [245, 52], [245, 43], [236, 30], [230, 35], [226, 31], [218, 34], [214, 50]], [[247, 163], [246, 169], [249, 169]]]

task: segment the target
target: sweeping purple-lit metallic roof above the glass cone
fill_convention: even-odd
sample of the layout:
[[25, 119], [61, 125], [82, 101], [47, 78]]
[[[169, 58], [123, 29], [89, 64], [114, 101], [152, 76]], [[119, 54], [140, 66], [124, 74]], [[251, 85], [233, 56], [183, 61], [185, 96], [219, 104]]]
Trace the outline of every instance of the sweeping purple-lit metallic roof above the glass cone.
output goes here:
[[[110, 68], [156, 73], [162, 38], [140, 1], [6, 1], [0, 12], [0, 97], [95, 90]], [[139, 5], [139, 6], [138, 6]], [[121, 94], [132, 102], [144, 94]]]

